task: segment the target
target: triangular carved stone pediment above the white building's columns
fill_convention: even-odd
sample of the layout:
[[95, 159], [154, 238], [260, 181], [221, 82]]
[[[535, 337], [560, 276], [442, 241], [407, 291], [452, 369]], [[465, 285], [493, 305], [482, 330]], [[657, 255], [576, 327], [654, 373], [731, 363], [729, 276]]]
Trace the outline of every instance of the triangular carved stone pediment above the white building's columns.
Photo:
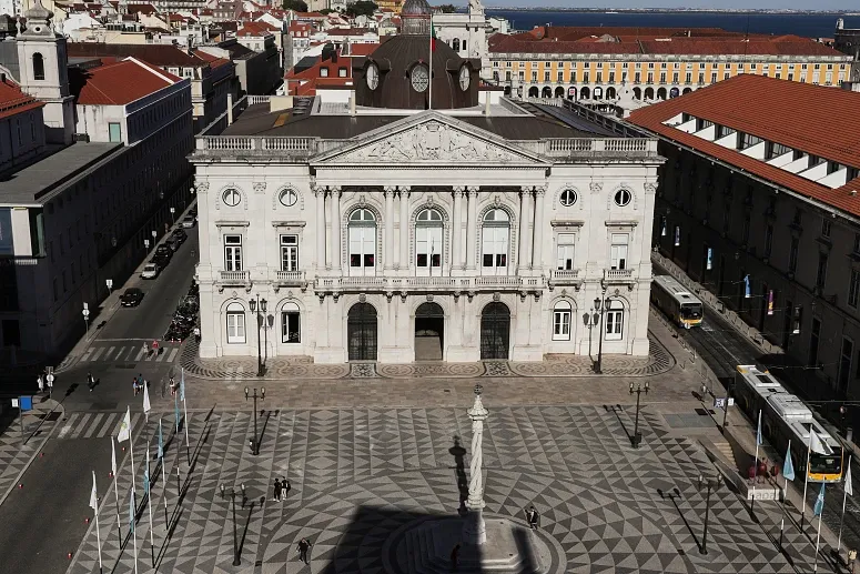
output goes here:
[[546, 160], [503, 138], [438, 112], [424, 112], [347, 140], [312, 164], [434, 165], [544, 164]]

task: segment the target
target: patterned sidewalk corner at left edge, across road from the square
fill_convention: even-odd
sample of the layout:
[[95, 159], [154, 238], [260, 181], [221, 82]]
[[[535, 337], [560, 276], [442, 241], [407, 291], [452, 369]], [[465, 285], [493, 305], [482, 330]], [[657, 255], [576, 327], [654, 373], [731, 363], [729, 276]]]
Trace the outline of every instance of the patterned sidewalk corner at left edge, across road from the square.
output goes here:
[[51, 436], [62, 417], [63, 407], [53, 399], [33, 397], [33, 410], [27, 411], [21, 434], [21, 417], [14, 416], [0, 434], [0, 504], [18, 486], [36, 455]]

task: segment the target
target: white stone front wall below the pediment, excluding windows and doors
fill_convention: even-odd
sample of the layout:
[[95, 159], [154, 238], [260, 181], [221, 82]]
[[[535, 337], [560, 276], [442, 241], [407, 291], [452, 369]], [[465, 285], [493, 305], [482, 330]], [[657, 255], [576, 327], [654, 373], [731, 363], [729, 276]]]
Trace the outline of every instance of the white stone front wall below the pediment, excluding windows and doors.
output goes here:
[[[193, 161], [193, 160], [192, 160]], [[649, 245], [657, 165], [649, 161], [555, 164], [547, 170], [504, 169], [471, 165], [452, 169], [409, 165], [396, 169], [365, 165], [361, 169], [326, 170], [315, 165], [312, 179], [307, 164], [200, 162], [196, 187], [200, 208], [201, 261], [201, 355], [230, 356], [257, 353], [256, 319], [249, 301], [257, 295], [267, 301], [273, 328], [261, 332], [267, 356], [310, 355], [321, 363], [347, 361], [347, 313], [366, 302], [377, 313], [377, 360], [408, 363], [415, 360], [415, 311], [432, 300], [442, 306], [444, 360], [480, 359], [482, 310], [498, 301], [510, 311], [508, 356], [517, 361], [540, 361], [546, 353], [587, 354], [589, 331], [583, 313], [604, 293], [601, 281], [610, 266], [613, 233], [629, 234], [627, 265], [631, 279], [610, 282], [606, 295], [624, 306], [623, 336], [605, 340], [605, 353], [648, 353], [648, 296], [651, 278]], [[535, 165], [535, 168], [538, 168]], [[418, 188], [433, 185], [433, 188]], [[489, 185], [493, 185], [492, 188]], [[526, 188], [526, 193], [520, 190]], [[227, 207], [223, 193], [240, 191], [241, 201]], [[294, 190], [293, 207], [279, 202], [284, 189]], [[536, 191], [533, 191], [536, 190]], [[575, 190], [577, 201], [564, 207], [559, 197]], [[618, 207], [614, 195], [627, 190], [631, 201]], [[314, 193], [316, 192], [316, 194]], [[333, 201], [333, 198], [335, 201]], [[474, 203], [474, 207], [472, 205]], [[376, 218], [376, 266], [372, 279], [348, 278], [348, 216], [357, 208]], [[477, 285], [482, 278], [482, 218], [499, 208], [509, 215], [508, 271], [505, 280], [533, 286], [456, 289], [416, 286], [415, 218], [432, 207], [443, 215], [442, 266], [434, 276], [451, 284]], [[334, 218], [332, 215], [335, 215]], [[322, 215], [322, 218], [321, 218]], [[459, 222], [459, 225], [456, 224]], [[557, 236], [576, 234], [575, 265], [579, 281], [555, 281]], [[280, 234], [299, 235], [299, 269], [306, 283], [279, 286]], [[243, 271], [249, 281], [223, 281], [223, 235], [242, 236]], [[334, 253], [334, 255], [333, 255]], [[320, 284], [315, 285], [315, 280]], [[325, 289], [341, 281], [364, 281], [366, 289]], [[374, 281], [399, 285], [374, 286]], [[499, 280], [502, 281], [502, 280]], [[327, 283], [325, 283], [327, 282]], [[529, 283], [532, 282], [532, 283]], [[552, 289], [549, 284], [552, 283]], [[553, 340], [553, 309], [569, 303], [569, 340]], [[245, 311], [244, 342], [227, 343], [226, 310], [239, 304]], [[281, 341], [281, 310], [295, 304], [301, 313], [301, 342]], [[564, 303], [563, 303], [564, 304]], [[591, 333], [597, 352], [598, 333]]]

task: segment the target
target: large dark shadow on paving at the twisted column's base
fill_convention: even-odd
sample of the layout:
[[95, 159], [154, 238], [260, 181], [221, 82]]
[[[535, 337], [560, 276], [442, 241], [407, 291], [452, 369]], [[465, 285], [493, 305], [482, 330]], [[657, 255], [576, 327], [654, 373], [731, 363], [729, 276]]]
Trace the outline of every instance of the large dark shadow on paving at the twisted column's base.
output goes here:
[[[500, 518], [495, 516], [496, 520]], [[494, 520], [485, 515], [487, 522]], [[417, 573], [483, 573], [540, 572], [540, 561], [534, 552], [532, 536], [524, 522], [517, 521], [510, 528], [508, 540], [513, 541], [519, 553], [518, 565], [510, 570], [489, 568], [480, 564], [489, 558], [494, 540], [483, 546], [463, 544], [458, 536], [463, 518], [457, 514], [417, 512], [397, 510], [391, 506], [362, 505], [356, 508], [343, 534], [333, 548], [320, 551], [312, 547], [308, 553], [315, 574], [361, 574], [362, 572], [387, 572], [389, 574]], [[429, 526], [429, 527], [428, 527]], [[433, 535], [427, 531], [439, 531]], [[445, 531], [445, 533], [441, 532]], [[301, 532], [291, 541], [290, 558], [297, 561], [296, 544]], [[312, 544], [317, 541], [311, 540]], [[459, 548], [455, 547], [459, 543]], [[322, 543], [321, 543], [322, 545]], [[423, 551], [423, 552], [422, 552]], [[456, 565], [454, 557], [456, 555]], [[508, 560], [509, 553], [505, 557]], [[317, 566], [322, 564], [321, 566]]]

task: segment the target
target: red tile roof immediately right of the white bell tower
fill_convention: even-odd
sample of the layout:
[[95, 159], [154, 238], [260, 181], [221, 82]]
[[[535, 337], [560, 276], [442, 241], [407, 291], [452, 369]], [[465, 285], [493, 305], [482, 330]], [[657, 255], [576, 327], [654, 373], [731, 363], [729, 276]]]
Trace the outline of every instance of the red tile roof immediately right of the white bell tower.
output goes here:
[[89, 70], [72, 81], [82, 105], [124, 105], [181, 81], [173, 74], [129, 58]]

